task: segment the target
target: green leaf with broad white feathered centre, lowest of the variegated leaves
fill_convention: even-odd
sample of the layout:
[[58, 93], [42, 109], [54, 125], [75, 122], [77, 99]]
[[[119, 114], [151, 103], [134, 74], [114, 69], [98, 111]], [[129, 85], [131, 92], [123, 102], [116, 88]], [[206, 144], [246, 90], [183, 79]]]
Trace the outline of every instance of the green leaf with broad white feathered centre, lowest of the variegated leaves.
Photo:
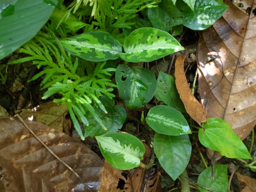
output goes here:
[[96, 140], [102, 155], [114, 168], [132, 169], [138, 167], [143, 159], [145, 147], [131, 134], [108, 133], [96, 136]]

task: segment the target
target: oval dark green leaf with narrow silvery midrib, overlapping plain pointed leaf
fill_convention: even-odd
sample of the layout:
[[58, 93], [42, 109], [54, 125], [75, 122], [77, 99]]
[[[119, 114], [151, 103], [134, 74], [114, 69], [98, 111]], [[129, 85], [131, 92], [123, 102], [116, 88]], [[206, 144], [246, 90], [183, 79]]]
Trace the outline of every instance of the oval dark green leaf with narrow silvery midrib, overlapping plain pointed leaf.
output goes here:
[[147, 124], [156, 132], [166, 135], [182, 135], [191, 133], [188, 122], [176, 109], [158, 105], [148, 111]]

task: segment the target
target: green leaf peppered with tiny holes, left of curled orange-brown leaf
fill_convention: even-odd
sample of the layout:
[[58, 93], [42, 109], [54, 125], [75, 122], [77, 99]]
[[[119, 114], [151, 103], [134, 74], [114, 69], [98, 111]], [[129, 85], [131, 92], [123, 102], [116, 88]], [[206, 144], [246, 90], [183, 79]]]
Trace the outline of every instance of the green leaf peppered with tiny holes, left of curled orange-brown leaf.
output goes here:
[[174, 77], [162, 71], [159, 72], [157, 78], [156, 98], [158, 101], [163, 101], [166, 105], [176, 108], [181, 113], [186, 112], [178, 90], [176, 89]]

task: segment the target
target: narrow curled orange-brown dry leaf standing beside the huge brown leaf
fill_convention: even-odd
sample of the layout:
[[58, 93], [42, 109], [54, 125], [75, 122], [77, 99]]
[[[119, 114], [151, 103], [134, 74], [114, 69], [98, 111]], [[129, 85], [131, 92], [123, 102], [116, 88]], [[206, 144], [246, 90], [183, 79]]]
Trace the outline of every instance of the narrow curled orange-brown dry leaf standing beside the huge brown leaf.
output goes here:
[[192, 94], [188, 84], [186, 83], [186, 76], [184, 72], [184, 58], [178, 57], [175, 62], [175, 84], [180, 94], [180, 99], [184, 103], [187, 113], [192, 119], [194, 119], [199, 125], [202, 122], [206, 122], [208, 114], [201, 104], [196, 100]]

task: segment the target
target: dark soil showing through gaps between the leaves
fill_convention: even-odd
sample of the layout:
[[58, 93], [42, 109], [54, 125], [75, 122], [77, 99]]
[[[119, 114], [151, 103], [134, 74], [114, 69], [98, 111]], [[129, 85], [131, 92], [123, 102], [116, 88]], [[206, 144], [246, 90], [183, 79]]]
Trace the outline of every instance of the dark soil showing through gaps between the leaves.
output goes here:
[[[182, 46], [186, 48], [186, 51], [178, 52], [176, 53], [176, 56], [187, 54], [185, 68], [189, 66], [186, 77], [188, 80], [188, 84], [192, 87], [193, 81], [194, 81], [194, 75], [196, 72], [196, 47], [199, 39], [199, 34], [192, 31], [187, 30], [184, 34], [182, 40], [180, 43]], [[36, 67], [33, 66], [32, 62], [25, 62], [21, 64], [14, 64], [14, 65], [7, 65], [8, 62], [11, 62], [13, 60], [17, 60], [18, 58], [23, 58], [24, 54], [19, 54], [18, 50], [16, 52], [13, 52], [6, 58], [0, 60], [0, 66], [2, 66], [2, 74], [7, 77], [6, 83], [0, 85], [0, 105], [3, 106], [7, 112], [10, 114], [10, 116], [13, 116], [16, 113], [16, 110], [18, 108], [24, 109], [24, 108], [33, 108], [35, 106], [38, 106], [44, 102], [48, 102], [53, 99], [53, 97], [48, 98], [48, 100], [42, 100], [43, 93], [45, 90], [41, 90], [40, 82], [42, 81], [42, 78], [38, 78], [37, 80], [31, 82], [31, 84], [27, 84], [27, 81], [29, 80], [29, 77], [33, 76], [38, 72], [36, 70]], [[172, 60], [172, 56], [166, 56], [164, 59], [160, 59], [150, 62], [148, 65], [146, 63], [138, 63], [136, 65], [144, 66], [146, 68], [149, 67], [150, 70], [152, 70], [156, 77], [158, 76], [158, 71], [168, 72], [168, 69], [170, 67], [170, 63]], [[36, 72], [35, 72], [36, 71]], [[31, 74], [32, 73], [32, 74]], [[174, 64], [172, 64], [172, 68], [170, 70], [170, 74], [174, 74]], [[196, 92], [195, 96], [198, 97], [197, 93], [197, 85], [196, 85]], [[24, 94], [24, 90], [28, 91], [26, 94], [26, 99], [21, 100], [22, 94]], [[124, 102], [118, 97], [118, 92], [115, 89], [114, 94], [116, 94], [116, 104], [121, 104], [124, 106]], [[199, 99], [199, 98], [198, 98]], [[157, 104], [162, 104], [160, 102], [157, 102]], [[139, 135], [138, 138], [141, 140], [146, 140], [147, 142], [150, 142], [153, 138], [154, 132], [146, 130], [146, 128], [142, 127], [138, 122], [134, 120], [140, 119], [141, 112], [144, 111], [144, 114], [148, 112], [148, 110], [156, 105], [156, 99], [153, 98], [151, 102], [149, 102], [146, 106], [140, 109], [128, 109], [127, 110], [127, 120], [125, 124], [123, 125], [123, 128], [121, 131], [129, 132], [130, 134]], [[67, 116], [68, 118], [68, 116]], [[74, 134], [72, 134], [74, 137], [76, 137], [76, 134], [74, 130], [72, 131]], [[251, 135], [249, 135], [246, 139], [244, 139], [245, 145], [250, 148], [251, 143]], [[200, 156], [200, 152], [202, 153], [202, 156], [204, 160], [206, 161], [207, 165], [210, 166], [211, 162], [206, 156], [206, 149], [198, 142], [197, 134], [191, 134], [190, 140], [192, 142], [192, 154], [190, 157], [190, 162], [187, 166], [187, 172], [190, 180], [196, 182], [198, 175], [202, 170], [205, 169], [204, 163], [202, 161], [202, 158]], [[254, 138], [256, 140], [256, 138]], [[102, 155], [100, 154], [100, 150], [98, 148], [98, 144], [95, 139], [86, 138], [84, 141], [84, 144], [88, 146], [91, 150], [96, 152], [101, 158]], [[252, 153], [256, 153], [256, 144], [253, 144], [253, 151]], [[216, 162], [216, 164], [228, 164], [228, 176], [230, 177], [232, 170], [237, 165], [242, 165], [242, 162], [236, 160], [236, 159], [229, 159], [222, 157], [220, 160]], [[177, 179], [176, 181], [173, 181], [168, 174], [161, 168], [160, 164], [156, 160], [156, 166], [159, 168], [161, 172], [161, 184], [164, 192], [172, 191], [172, 192], [178, 192], [180, 191], [180, 181]], [[240, 172], [243, 175], [250, 176], [252, 178], [256, 178], [256, 173], [252, 172], [249, 168], [245, 168], [243, 166], [240, 166], [237, 169], [238, 172]], [[194, 186], [193, 183], [191, 183], [192, 186]], [[174, 189], [176, 188], [176, 189]], [[174, 190], [172, 190], [174, 189]], [[239, 192], [240, 186], [238, 183], [238, 180], [236, 178], [236, 175], [232, 178], [232, 184], [231, 189], [233, 192]], [[191, 192], [197, 192], [199, 190], [190, 188]]]

